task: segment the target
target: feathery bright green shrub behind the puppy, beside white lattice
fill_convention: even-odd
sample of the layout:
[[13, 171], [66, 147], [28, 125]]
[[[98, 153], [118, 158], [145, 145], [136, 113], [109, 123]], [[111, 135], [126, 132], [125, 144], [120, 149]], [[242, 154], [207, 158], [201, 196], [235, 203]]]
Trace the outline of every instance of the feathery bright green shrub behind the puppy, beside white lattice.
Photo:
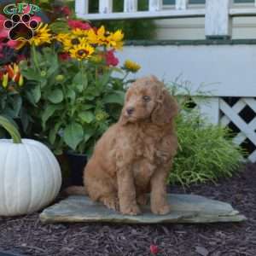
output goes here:
[[188, 108], [191, 96], [180, 97], [179, 103], [181, 114], [176, 119], [179, 148], [168, 183], [188, 186], [215, 182], [219, 177], [231, 177], [238, 172], [244, 152], [232, 142], [231, 131], [212, 125], [197, 110]]

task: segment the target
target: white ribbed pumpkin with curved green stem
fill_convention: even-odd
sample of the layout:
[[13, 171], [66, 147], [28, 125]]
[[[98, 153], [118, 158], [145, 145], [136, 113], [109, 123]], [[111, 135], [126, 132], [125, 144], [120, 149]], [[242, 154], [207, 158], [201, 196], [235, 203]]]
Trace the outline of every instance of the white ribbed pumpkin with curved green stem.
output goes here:
[[0, 140], [0, 216], [36, 212], [58, 195], [61, 168], [49, 148], [30, 139], [20, 140], [6, 120], [0, 116], [0, 125], [14, 141]]

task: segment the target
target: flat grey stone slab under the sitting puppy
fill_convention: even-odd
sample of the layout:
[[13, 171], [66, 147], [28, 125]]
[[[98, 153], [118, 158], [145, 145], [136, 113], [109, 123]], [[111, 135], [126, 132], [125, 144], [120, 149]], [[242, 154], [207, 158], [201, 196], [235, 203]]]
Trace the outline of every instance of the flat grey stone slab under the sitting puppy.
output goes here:
[[90, 201], [83, 195], [72, 195], [48, 207], [40, 214], [43, 223], [91, 223], [108, 222], [124, 224], [157, 223], [216, 223], [241, 222], [246, 217], [233, 209], [230, 204], [207, 199], [201, 195], [169, 194], [168, 201], [172, 212], [154, 215], [150, 207], [143, 207], [143, 214], [122, 215], [104, 207], [101, 203]]

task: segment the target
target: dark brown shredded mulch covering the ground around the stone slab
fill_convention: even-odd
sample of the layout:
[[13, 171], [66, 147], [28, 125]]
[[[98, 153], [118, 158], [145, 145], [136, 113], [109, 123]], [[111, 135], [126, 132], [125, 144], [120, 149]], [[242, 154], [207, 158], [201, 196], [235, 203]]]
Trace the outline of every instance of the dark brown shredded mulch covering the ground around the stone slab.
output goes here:
[[[172, 192], [183, 192], [172, 187]], [[38, 214], [0, 218], [0, 251], [23, 255], [256, 256], [256, 165], [240, 177], [195, 185], [186, 193], [230, 202], [248, 218], [242, 224], [40, 224]]]

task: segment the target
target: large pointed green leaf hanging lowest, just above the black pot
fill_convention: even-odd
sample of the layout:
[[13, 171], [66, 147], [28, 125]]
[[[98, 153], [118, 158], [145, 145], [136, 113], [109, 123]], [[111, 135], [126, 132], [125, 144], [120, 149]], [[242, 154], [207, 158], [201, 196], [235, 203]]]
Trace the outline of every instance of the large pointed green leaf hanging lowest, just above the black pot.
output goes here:
[[79, 125], [78, 123], [67, 125], [64, 130], [64, 142], [67, 143], [70, 148], [76, 150], [77, 146], [83, 141], [83, 139], [84, 130], [82, 125]]

